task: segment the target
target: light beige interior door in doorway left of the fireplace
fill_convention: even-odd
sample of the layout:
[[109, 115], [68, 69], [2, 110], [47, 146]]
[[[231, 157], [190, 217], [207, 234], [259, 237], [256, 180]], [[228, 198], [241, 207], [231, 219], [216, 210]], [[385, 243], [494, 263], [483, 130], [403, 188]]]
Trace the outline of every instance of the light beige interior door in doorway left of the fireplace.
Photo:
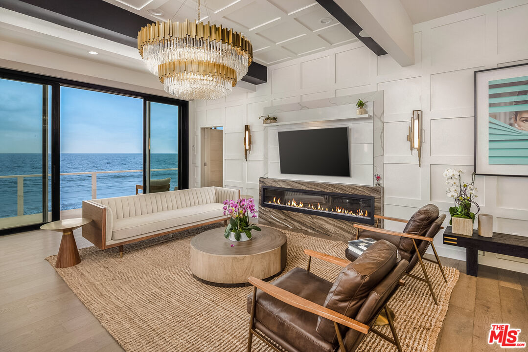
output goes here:
[[202, 187], [223, 187], [223, 146], [223, 129], [202, 129]]

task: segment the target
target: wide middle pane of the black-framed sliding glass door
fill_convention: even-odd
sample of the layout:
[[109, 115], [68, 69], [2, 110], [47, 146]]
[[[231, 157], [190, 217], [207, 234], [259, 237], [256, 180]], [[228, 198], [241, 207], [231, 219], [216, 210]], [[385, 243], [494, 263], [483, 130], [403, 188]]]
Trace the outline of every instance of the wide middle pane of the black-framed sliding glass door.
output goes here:
[[143, 100], [61, 87], [61, 213], [82, 201], [128, 196], [143, 184]]

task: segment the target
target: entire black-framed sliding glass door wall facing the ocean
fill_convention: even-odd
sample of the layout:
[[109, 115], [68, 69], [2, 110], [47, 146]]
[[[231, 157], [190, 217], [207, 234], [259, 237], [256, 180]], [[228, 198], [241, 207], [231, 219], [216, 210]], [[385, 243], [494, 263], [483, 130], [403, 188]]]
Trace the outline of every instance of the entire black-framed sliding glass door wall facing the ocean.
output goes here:
[[187, 186], [187, 101], [0, 68], [0, 235]]

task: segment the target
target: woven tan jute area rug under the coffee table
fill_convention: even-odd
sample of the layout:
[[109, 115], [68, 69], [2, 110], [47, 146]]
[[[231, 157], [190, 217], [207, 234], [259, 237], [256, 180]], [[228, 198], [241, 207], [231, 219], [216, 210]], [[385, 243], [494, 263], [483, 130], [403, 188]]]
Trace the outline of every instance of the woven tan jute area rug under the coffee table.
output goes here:
[[[81, 249], [81, 263], [56, 269], [68, 286], [127, 351], [245, 351], [249, 315], [246, 297], [251, 287], [219, 288], [200, 283], [190, 270], [192, 235], [210, 229], [188, 230], [117, 249]], [[304, 268], [304, 249], [344, 258], [346, 244], [283, 231], [288, 237], [287, 265]], [[221, 235], [221, 234], [220, 234]], [[235, 244], [236, 245], [236, 244]], [[46, 258], [55, 265], [56, 255]], [[445, 267], [448, 283], [438, 265], [428, 262], [439, 305], [427, 285], [406, 277], [389, 303], [403, 351], [433, 352], [446, 317], [451, 291], [459, 272]], [[419, 265], [414, 273], [422, 275]], [[317, 259], [311, 271], [334, 281], [340, 268]], [[388, 327], [381, 331], [390, 336]], [[253, 338], [255, 352], [271, 349]], [[369, 334], [359, 351], [396, 351], [395, 346]]]

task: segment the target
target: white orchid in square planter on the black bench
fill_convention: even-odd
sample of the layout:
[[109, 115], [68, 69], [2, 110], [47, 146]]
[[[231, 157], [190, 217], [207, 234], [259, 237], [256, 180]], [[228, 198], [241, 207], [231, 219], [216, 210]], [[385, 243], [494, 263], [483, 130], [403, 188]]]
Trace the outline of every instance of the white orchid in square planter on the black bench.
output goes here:
[[[447, 184], [447, 195], [455, 201], [455, 206], [449, 208], [451, 220], [449, 224], [452, 226], [453, 233], [471, 236], [473, 234], [473, 223], [475, 222], [475, 214], [478, 214], [480, 207], [475, 202], [477, 195], [477, 188], [475, 187], [475, 173], [471, 183], [462, 182], [461, 174], [464, 171], [449, 168], [445, 170], [444, 177]], [[477, 212], [472, 213], [471, 207], [475, 204]]]

